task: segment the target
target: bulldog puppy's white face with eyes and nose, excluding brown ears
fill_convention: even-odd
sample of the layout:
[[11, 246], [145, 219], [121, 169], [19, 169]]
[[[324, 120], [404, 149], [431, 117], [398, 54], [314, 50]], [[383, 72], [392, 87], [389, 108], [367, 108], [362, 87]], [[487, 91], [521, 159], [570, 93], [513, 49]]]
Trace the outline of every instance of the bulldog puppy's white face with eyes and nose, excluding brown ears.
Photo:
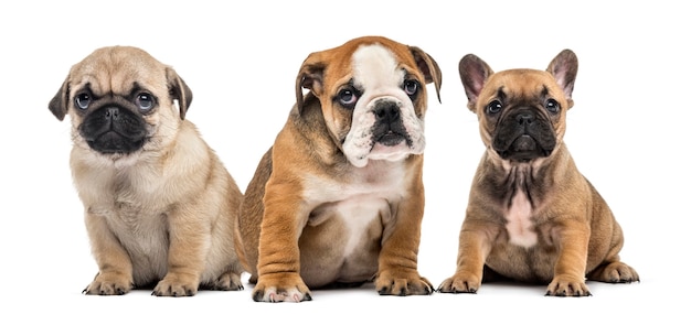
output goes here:
[[424, 121], [415, 105], [424, 97], [423, 78], [376, 44], [360, 46], [351, 64], [352, 76], [341, 78], [331, 94], [333, 110], [351, 111], [343, 141], [350, 162], [363, 166], [368, 160], [397, 161], [422, 153]]

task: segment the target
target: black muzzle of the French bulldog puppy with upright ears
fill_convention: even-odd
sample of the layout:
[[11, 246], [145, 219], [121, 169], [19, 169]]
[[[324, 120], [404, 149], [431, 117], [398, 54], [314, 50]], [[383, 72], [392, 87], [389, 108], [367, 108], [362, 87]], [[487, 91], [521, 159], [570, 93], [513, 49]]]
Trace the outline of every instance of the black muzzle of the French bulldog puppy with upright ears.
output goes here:
[[556, 137], [548, 117], [532, 108], [522, 108], [502, 117], [492, 147], [502, 159], [529, 162], [549, 156], [556, 147]]

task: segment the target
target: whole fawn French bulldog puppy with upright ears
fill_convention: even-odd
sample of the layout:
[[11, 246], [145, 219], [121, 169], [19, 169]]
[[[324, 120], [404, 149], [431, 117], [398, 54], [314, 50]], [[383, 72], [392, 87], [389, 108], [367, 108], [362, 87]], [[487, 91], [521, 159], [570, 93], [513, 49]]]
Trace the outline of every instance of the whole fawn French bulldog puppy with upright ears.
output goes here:
[[456, 273], [440, 292], [476, 292], [481, 282], [545, 283], [548, 295], [591, 295], [585, 280], [638, 281], [619, 260], [621, 228], [563, 142], [576, 78], [565, 50], [546, 71], [493, 73], [479, 57], [459, 64], [468, 108], [487, 151], [459, 236]]

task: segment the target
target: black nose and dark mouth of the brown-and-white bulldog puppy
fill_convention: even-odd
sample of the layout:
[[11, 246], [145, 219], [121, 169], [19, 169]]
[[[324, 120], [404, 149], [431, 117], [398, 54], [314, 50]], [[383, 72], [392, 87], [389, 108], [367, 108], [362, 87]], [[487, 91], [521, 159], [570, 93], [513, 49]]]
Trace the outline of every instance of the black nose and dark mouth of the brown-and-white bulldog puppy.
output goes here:
[[379, 100], [374, 106], [376, 121], [372, 126], [372, 139], [374, 142], [387, 147], [394, 147], [406, 141], [411, 145], [411, 139], [401, 119], [401, 108], [394, 101]]

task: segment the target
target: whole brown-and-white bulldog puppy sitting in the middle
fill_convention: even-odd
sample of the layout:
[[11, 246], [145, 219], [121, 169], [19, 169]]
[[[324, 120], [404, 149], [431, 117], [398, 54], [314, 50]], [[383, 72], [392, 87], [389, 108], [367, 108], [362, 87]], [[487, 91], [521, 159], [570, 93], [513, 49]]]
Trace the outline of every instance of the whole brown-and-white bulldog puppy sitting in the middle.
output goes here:
[[433, 292], [417, 272], [430, 83], [438, 95], [429, 55], [384, 37], [305, 59], [297, 102], [238, 215], [255, 301], [311, 300], [310, 289], [372, 279], [380, 294]]

